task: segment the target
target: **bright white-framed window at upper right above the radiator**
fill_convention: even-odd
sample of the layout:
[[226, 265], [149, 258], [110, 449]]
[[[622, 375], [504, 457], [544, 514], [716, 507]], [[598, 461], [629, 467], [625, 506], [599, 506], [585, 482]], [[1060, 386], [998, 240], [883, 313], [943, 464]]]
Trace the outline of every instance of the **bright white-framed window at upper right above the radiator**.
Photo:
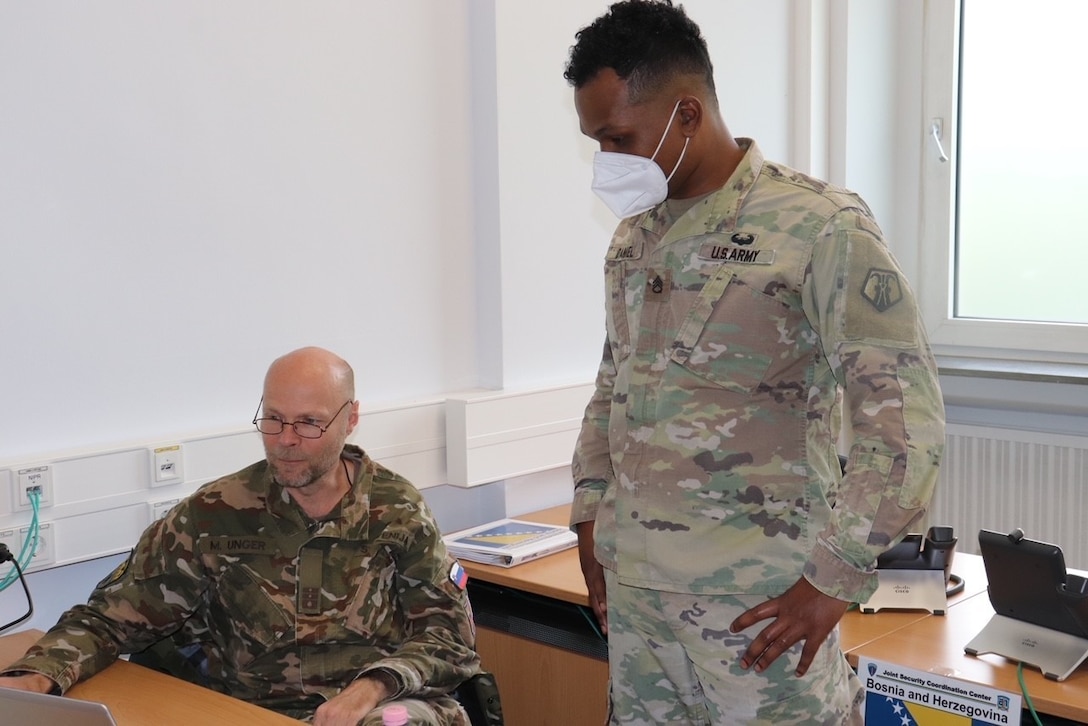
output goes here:
[[[1088, 361], [1080, 0], [930, 0], [919, 284], [938, 349]], [[935, 274], [940, 271], [941, 274]]]

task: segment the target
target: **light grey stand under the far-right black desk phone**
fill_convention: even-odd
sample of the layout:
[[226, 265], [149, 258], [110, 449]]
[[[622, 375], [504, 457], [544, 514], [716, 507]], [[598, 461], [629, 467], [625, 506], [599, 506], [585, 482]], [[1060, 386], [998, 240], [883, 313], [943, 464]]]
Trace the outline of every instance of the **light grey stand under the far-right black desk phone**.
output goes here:
[[1065, 680], [1088, 657], [1088, 640], [1034, 623], [993, 615], [963, 650], [970, 655], [1003, 655], [1039, 668], [1051, 680]]

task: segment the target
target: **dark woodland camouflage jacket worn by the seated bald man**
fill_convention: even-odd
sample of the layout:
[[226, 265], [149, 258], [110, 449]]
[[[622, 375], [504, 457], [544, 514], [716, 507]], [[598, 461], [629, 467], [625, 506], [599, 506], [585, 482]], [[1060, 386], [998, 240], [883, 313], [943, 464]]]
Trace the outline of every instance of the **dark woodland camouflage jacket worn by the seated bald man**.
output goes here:
[[344, 457], [354, 489], [320, 522], [264, 462], [201, 487], [8, 670], [64, 691], [173, 635], [203, 651], [206, 685], [296, 717], [374, 668], [398, 697], [452, 691], [479, 672], [455, 563], [415, 487]]

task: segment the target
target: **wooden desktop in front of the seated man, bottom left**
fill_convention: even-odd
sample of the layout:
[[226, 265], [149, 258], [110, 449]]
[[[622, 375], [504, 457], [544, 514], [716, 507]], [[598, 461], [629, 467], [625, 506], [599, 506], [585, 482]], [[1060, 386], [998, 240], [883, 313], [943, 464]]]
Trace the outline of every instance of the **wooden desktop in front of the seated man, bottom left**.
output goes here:
[[[0, 637], [0, 666], [18, 660], [40, 636], [40, 630], [23, 630]], [[76, 684], [65, 696], [104, 703], [119, 726], [299, 723], [127, 661]]]

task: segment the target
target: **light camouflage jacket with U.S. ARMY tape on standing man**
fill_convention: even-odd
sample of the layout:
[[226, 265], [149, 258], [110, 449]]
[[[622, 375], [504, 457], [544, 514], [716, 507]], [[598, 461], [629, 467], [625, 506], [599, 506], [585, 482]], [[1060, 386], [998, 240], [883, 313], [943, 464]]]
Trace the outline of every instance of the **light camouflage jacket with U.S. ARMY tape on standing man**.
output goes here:
[[740, 140], [724, 187], [613, 237], [571, 522], [635, 587], [864, 601], [937, 480], [936, 365], [865, 202]]

